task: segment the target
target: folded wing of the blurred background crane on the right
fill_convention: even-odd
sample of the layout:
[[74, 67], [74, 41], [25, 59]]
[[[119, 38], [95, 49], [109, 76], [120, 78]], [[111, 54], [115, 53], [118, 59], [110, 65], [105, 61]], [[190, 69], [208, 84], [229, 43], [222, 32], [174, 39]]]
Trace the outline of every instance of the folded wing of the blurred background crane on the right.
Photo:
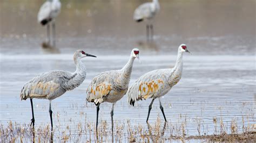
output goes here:
[[153, 17], [152, 10], [151, 10], [151, 3], [144, 3], [140, 5], [133, 14], [133, 19], [137, 22], [142, 21], [144, 18], [151, 18]]

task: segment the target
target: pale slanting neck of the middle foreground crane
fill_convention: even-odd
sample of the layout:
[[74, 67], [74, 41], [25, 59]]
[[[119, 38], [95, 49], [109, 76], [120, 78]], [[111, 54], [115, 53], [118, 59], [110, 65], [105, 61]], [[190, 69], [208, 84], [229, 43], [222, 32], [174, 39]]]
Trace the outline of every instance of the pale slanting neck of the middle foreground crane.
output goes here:
[[128, 88], [131, 73], [132, 73], [132, 66], [133, 66], [134, 59], [135, 58], [131, 55], [130, 58], [129, 58], [129, 61], [121, 69], [121, 74], [120, 74], [120, 76], [117, 80], [117, 82], [119, 82], [119, 86], [120, 86], [119, 88], [121, 88], [121, 89]]

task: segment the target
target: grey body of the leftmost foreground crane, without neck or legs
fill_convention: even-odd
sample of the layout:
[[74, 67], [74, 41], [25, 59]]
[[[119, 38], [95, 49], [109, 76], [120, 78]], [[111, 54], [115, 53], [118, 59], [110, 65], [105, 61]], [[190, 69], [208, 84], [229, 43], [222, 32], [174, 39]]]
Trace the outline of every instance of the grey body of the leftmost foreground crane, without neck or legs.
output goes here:
[[55, 99], [63, 95], [68, 90], [78, 87], [85, 79], [86, 75], [81, 75], [69, 71], [53, 70], [34, 77], [25, 83], [21, 99], [26, 98], [44, 98]]

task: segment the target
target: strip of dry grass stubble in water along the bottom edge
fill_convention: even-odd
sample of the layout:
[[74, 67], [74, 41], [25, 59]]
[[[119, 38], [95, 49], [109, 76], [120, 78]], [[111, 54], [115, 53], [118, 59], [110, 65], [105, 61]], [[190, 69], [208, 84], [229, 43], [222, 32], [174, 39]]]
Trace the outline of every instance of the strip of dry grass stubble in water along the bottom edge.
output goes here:
[[[130, 120], [114, 120], [114, 132], [111, 131], [111, 124], [106, 120], [100, 121], [98, 132], [95, 130], [95, 123], [85, 121], [77, 123], [75, 130], [69, 125], [65, 128], [60, 124], [55, 126], [53, 133], [49, 125], [39, 125], [31, 128], [28, 124], [18, 124], [9, 121], [8, 126], [0, 125], [1, 142], [51, 142], [51, 141], [72, 141], [72, 142], [163, 142], [172, 140], [207, 140], [207, 141], [256, 141], [256, 124], [250, 123], [254, 115], [242, 116], [242, 126], [238, 125], [237, 118], [224, 123], [222, 117], [214, 117], [212, 125], [214, 134], [208, 134], [207, 125], [203, 120], [197, 118], [198, 135], [189, 135], [187, 130], [188, 122], [186, 115], [179, 115], [178, 123], [164, 123], [159, 115], [154, 124], [132, 125]], [[247, 123], [247, 124], [246, 124]]]

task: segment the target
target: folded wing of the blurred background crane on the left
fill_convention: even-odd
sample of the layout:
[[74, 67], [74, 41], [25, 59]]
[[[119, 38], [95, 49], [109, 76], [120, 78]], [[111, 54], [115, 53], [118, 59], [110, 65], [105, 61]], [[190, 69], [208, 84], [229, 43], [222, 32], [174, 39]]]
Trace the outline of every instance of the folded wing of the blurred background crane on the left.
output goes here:
[[45, 25], [48, 23], [51, 15], [51, 2], [46, 1], [40, 8], [38, 15], [37, 15], [37, 22]]

